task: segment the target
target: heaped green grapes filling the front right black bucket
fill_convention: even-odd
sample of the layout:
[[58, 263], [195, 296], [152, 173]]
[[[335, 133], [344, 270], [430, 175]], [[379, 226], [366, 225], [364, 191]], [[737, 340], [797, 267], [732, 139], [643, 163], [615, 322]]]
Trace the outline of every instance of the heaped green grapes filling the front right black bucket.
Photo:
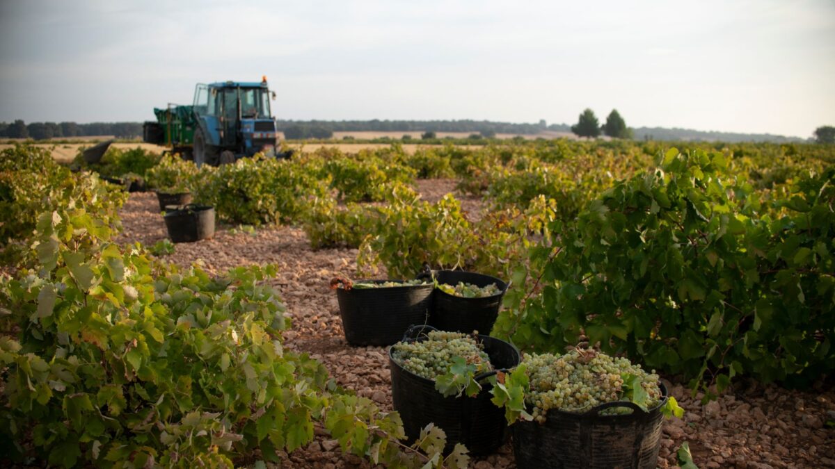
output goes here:
[[[525, 404], [544, 422], [551, 409], [582, 412], [606, 402], [630, 401], [646, 410], [662, 399], [658, 375], [629, 360], [593, 349], [574, 349], [563, 356], [532, 354], [525, 359], [530, 391]], [[604, 415], [629, 412], [615, 407]]]

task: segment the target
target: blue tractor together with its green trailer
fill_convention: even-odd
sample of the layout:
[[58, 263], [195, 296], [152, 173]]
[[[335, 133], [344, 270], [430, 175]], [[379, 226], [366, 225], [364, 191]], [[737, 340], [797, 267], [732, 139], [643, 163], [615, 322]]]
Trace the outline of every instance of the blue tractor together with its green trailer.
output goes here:
[[275, 97], [266, 77], [260, 83], [200, 83], [191, 106], [154, 108], [157, 121], [144, 124], [144, 141], [168, 146], [198, 166], [233, 163], [259, 152], [289, 158], [291, 152], [278, 145], [270, 112]]

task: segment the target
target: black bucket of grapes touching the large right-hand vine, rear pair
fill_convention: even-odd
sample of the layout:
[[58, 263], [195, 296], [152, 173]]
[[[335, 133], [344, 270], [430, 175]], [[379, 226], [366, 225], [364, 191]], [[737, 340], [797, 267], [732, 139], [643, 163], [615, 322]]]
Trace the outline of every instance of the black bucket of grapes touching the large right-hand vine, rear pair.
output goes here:
[[[426, 278], [430, 273], [418, 275], [417, 278]], [[463, 298], [461, 296], [449, 295], [442, 290], [436, 290], [432, 300], [432, 315], [429, 316], [429, 324], [440, 330], [458, 332], [478, 332], [488, 335], [493, 329], [493, 323], [498, 317], [498, 309], [502, 306], [502, 297], [508, 290], [508, 284], [490, 275], [465, 272], [463, 270], [435, 270], [432, 272], [438, 283], [457, 285], [464, 282], [478, 287], [496, 284], [498, 290], [496, 295], [484, 296], [483, 298]]]

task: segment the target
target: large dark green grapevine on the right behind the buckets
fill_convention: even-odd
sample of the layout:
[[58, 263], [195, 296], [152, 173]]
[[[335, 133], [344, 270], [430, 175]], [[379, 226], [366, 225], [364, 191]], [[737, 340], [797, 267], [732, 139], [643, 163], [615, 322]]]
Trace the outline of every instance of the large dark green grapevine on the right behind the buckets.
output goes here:
[[584, 333], [720, 391], [740, 374], [801, 384], [832, 371], [833, 174], [767, 206], [725, 155], [672, 149], [551, 225], [559, 238], [531, 252], [538, 280], [508, 295], [494, 333], [535, 350]]

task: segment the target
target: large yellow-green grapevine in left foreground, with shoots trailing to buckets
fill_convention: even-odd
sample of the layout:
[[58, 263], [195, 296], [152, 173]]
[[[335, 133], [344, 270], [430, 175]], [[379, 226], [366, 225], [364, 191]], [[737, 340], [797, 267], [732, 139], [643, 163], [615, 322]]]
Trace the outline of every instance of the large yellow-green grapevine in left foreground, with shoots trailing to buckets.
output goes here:
[[285, 307], [263, 285], [275, 267], [213, 277], [154, 263], [139, 245], [112, 243], [118, 220], [95, 204], [46, 190], [54, 209], [38, 217], [31, 269], [0, 275], [0, 328], [13, 333], [0, 338], [5, 460], [229, 467], [258, 451], [280, 462], [276, 451], [312, 441], [320, 421], [375, 463], [467, 465], [463, 446], [443, 456], [439, 429], [404, 445], [397, 413], [284, 350]]

